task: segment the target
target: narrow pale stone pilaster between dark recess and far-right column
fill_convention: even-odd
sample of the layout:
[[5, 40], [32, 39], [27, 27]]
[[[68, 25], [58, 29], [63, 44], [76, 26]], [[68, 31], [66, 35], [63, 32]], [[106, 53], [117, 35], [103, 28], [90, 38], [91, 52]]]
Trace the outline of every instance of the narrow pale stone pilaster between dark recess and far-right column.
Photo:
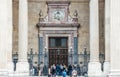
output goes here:
[[105, 0], [105, 62], [104, 75], [107, 76], [110, 69], [110, 0]]

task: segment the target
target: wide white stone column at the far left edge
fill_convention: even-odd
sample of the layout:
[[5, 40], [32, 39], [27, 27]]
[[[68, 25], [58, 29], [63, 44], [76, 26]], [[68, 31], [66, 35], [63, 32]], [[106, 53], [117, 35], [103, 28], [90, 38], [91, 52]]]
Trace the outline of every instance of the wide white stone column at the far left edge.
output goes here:
[[10, 72], [13, 72], [12, 0], [3, 0], [0, 2], [0, 76]]

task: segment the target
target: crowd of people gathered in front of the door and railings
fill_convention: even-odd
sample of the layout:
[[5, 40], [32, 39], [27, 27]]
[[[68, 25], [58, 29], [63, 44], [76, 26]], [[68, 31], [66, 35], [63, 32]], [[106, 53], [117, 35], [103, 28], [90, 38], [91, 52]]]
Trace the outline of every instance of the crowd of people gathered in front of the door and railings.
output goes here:
[[48, 77], [56, 77], [56, 76], [74, 76], [77, 75], [84, 75], [87, 74], [87, 68], [83, 66], [82, 68], [79, 65], [68, 65], [65, 64], [53, 64], [50, 67], [47, 67], [46, 65], [40, 64], [38, 66], [34, 66], [33, 69], [31, 69], [32, 75], [34, 76], [47, 76]]

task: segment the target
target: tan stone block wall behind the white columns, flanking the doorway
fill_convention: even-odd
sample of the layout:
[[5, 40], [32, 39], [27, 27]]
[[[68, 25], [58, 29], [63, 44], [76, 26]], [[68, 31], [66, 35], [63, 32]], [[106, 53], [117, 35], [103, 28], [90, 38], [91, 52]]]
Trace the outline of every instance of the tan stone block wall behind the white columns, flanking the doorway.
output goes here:
[[[34, 53], [38, 53], [39, 39], [38, 29], [36, 24], [39, 20], [40, 9], [43, 12], [43, 16], [47, 15], [46, 1], [51, 0], [28, 0], [28, 52], [30, 48], [33, 48]], [[52, 0], [53, 1], [53, 0]], [[61, 1], [61, 0], [54, 0]], [[66, 1], [66, 0], [62, 0]], [[70, 16], [73, 17], [73, 12], [78, 11], [78, 23], [80, 28], [78, 30], [78, 54], [83, 54], [84, 48], [89, 49], [89, 0], [70, 0], [69, 6]], [[18, 51], [18, 1], [13, 0], [13, 53]], [[99, 0], [99, 50], [104, 54], [104, 0]], [[37, 59], [37, 58], [36, 58]], [[79, 59], [79, 62], [83, 62], [83, 58]], [[35, 60], [37, 61], [37, 60]]]

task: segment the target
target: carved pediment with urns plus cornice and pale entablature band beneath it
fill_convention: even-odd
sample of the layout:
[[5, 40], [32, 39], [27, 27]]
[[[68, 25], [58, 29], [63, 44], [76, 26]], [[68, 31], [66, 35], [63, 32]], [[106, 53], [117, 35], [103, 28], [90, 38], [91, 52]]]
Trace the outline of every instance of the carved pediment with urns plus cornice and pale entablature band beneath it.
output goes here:
[[[61, 32], [64, 33], [72, 33], [73, 36], [77, 37], [78, 35], [78, 28], [80, 27], [80, 24], [78, 23], [77, 18], [77, 11], [75, 11], [75, 17], [71, 17], [69, 15], [69, 1], [48, 1], [46, 2], [48, 5], [48, 15], [44, 18], [41, 18], [41, 15], [43, 14], [40, 10], [40, 18], [39, 22], [37, 23], [37, 27], [39, 29], [39, 34], [44, 35], [46, 32], [49, 32], [49, 34], [52, 34], [51, 32], [55, 32], [54, 34], [59, 34]], [[63, 13], [65, 14], [64, 17], [61, 17]], [[61, 13], [61, 15], [59, 15]], [[58, 14], [58, 18], [54, 19], [53, 14]], [[52, 19], [53, 18], [53, 19]], [[61, 33], [64, 34], [64, 33]]]

